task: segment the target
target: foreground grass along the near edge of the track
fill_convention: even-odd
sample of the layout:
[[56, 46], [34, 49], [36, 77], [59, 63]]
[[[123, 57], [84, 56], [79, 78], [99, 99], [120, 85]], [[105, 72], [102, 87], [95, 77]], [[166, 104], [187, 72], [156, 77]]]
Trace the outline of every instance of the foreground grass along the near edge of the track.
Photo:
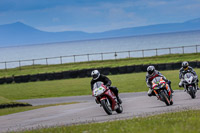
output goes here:
[[199, 133], [200, 110], [139, 117], [104, 123], [61, 126], [24, 133]]

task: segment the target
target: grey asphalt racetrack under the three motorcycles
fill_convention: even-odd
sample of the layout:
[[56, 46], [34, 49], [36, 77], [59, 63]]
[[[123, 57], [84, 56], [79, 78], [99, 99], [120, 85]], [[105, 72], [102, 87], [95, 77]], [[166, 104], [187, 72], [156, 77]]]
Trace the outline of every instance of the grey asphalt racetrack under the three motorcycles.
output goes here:
[[80, 102], [69, 105], [50, 106], [5, 116], [0, 116], [0, 132], [20, 131], [58, 125], [104, 122], [119, 119], [129, 119], [138, 116], [154, 115], [165, 112], [200, 109], [200, 93], [192, 99], [183, 90], [173, 93], [174, 104], [166, 106], [156, 97], [148, 97], [146, 92], [121, 93], [123, 113], [107, 115], [92, 96], [74, 96], [60, 98], [43, 98], [20, 100], [33, 105]]

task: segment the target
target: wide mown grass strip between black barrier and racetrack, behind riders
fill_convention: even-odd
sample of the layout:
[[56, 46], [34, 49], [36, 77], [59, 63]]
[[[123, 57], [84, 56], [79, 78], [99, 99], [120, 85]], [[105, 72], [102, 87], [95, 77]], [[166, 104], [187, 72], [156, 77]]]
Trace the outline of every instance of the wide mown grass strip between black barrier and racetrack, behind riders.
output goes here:
[[[200, 69], [195, 69], [200, 75]], [[179, 71], [161, 71], [167, 79], [172, 81], [173, 89], [180, 89]], [[145, 82], [146, 73], [131, 73], [120, 75], [109, 75], [112, 85], [119, 88], [122, 92], [141, 92], [147, 91]], [[0, 87], [0, 95], [10, 100], [33, 99], [61, 96], [91, 95], [91, 78], [76, 78], [53, 81], [28, 82], [20, 84], [4, 84]], [[181, 88], [182, 89], [182, 88]]]

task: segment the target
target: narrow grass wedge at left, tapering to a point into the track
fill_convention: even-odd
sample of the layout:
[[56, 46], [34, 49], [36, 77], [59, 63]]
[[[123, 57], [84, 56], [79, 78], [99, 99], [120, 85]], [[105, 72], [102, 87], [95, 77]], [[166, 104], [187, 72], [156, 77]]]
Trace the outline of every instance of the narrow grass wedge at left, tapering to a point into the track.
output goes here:
[[67, 104], [75, 104], [77, 102], [71, 102], [71, 103], [61, 103], [61, 104], [49, 104], [49, 105], [39, 105], [39, 106], [26, 106], [26, 107], [14, 107], [14, 108], [4, 108], [0, 109], [0, 116], [18, 113], [18, 112], [24, 112], [28, 110], [34, 110], [49, 106], [58, 106], [58, 105], [67, 105]]

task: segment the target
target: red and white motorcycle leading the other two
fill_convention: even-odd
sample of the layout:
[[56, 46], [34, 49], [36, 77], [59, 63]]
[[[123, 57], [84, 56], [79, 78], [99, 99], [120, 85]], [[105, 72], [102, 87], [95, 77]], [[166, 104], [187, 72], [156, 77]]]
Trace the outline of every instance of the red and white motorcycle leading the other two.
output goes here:
[[117, 101], [115, 94], [103, 82], [99, 81], [93, 85], [93, 96], [96, 97], [96, 102], [101, 104], [108, 115], [112, 115], [112, 111], [123, 112], [122, 105]]

